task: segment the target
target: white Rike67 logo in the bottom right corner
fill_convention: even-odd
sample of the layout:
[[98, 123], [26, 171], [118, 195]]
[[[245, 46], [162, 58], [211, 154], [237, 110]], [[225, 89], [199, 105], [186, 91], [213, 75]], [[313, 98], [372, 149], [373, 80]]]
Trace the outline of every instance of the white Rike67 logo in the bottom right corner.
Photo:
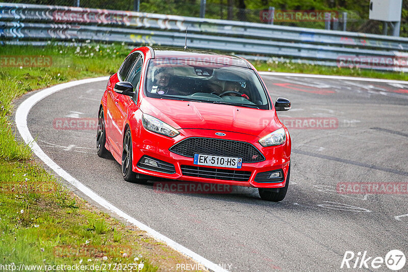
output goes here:
[[343, 256], [340, 268], [356, 268], [356, 269], [378, 269], [386, 265], [389, 269], [397, 271], [405, 265], [405, 255], [402, 251], [391, 250], [385, 258], [373, 257], [365, 252], [354, 254], [352, 251], [346, 251]]

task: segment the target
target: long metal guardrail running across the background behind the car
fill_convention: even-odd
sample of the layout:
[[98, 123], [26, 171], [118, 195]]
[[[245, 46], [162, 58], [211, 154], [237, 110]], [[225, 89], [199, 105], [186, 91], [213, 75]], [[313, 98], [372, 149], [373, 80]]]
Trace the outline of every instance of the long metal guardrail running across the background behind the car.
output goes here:
[[[261, 23], [215, 20], [130, 11], [0, 3], [0, 37], [21, 41], [104, 41], [184, 46], [245, 55], [339, 65], [359, 60], [378, 70], [405, 71], [408, 39], [373, 34], [295, 28]], [[389, 62], [381, 64], [382, 62]], [[392, 62], [392, 63], [391, 63]], [[340, 63], [341, 64], [341, 63]]]

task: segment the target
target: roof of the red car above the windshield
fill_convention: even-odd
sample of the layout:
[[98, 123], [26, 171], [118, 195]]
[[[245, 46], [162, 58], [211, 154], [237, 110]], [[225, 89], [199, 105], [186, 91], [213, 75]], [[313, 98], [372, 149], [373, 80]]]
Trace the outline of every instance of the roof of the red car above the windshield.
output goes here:
[[233, 55], [216, 53], [199, 49], [184, 49], [178, 47], [152, 47], [155, 52], [155, 59], [178, 59], [201, 62], [212, 62], [250, 68], [247, 61]]

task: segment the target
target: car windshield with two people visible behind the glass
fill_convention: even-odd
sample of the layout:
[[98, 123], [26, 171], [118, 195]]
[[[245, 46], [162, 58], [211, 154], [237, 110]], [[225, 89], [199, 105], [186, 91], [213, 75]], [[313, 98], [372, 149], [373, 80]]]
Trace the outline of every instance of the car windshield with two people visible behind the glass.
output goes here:
[[146, 95], [269, 109], [265, 90], [253, 70], [195, 60], [150, 60]]

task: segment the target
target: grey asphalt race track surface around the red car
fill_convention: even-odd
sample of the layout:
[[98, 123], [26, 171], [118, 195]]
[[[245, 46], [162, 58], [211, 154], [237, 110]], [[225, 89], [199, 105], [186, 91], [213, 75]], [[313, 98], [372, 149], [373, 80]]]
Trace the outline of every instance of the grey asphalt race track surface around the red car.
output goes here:
[[[346, 251], [384, 258], [398, 249], [408, 257], [406, 185], [404, 194], [336, 190], [342, 182], [408, 182], [408, 83], [263, 78], [273, 99], [292, 102], [292, 110], [278, 112], [292, 137], [291, 184], [280, 203], [261, 200], [255, 188], [163, 194], [152, 183], [124, 181], [113, 158], [96, 155], [94, 129], [61, 123], [93, 122], [105, 81], [44, 98], [28, 127], [50, 158], [99, 196], [232, 271], [354, 270], [340, 268]], [[390, 271], [385, 264], [359, 270]]]

